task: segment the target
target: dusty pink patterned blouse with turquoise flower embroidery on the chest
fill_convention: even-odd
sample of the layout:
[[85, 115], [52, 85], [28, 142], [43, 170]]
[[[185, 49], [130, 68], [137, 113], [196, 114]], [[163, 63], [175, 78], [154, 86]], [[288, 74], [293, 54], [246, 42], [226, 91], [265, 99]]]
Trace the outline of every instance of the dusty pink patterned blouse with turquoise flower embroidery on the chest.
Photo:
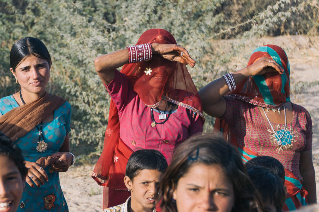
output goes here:
[[[287, 123], [282, 145], [279, 146], [275, 133], [269, 122], [262, 117], [258, 106], [230, 96], [224, 98], [226, 112], [221, 119], [228, 123], [237, 143], [260, 155], [276, 158], [302, 182], [299, 171], [300, 152], [312, 148], [312, 122], [308, 111], [292, 103], [293, 120]], [[284, 124], [271, 124], [278, 135], [284, 132]]]

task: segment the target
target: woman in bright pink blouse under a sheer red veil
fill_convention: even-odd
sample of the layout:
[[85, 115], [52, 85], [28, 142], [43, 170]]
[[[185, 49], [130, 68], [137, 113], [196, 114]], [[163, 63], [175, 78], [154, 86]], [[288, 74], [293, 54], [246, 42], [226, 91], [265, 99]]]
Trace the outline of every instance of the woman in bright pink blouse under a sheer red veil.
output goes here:
[[104, 209], [130, 196], [123, 179], [132, 152], [156, 149], [170, 163], [183, 140], [202, 133], [204, 118], [186, 68], [195, 61], [166, 30], [145, 31], [135, 46], [101, 55], [94, 64], [112, 98], [103, 152], [92, 174], [104, 186]]

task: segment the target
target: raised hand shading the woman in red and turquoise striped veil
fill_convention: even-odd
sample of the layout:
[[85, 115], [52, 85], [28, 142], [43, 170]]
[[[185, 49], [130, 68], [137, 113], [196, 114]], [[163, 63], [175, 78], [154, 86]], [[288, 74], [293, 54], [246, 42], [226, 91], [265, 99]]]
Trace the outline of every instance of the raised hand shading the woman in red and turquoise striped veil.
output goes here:
[[278, 65], [273, 59], [266, 57], [260, 58], [257, 62], [247, 67], [248, 76], [262, 75], [268, 72], [284, 73], [283, 67]]

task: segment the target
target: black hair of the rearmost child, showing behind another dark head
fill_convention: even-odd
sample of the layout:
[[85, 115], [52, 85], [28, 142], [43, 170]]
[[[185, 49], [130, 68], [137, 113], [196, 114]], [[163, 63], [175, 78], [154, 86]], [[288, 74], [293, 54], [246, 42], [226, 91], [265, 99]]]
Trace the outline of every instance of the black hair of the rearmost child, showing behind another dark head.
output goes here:
[[277, 174], [283, 181], [285, 181], [285, 168], [276, 158], [271, 156], [257, 156], [245, 164], [246, 169], [251, 166], [269, 168], [273, 173]]

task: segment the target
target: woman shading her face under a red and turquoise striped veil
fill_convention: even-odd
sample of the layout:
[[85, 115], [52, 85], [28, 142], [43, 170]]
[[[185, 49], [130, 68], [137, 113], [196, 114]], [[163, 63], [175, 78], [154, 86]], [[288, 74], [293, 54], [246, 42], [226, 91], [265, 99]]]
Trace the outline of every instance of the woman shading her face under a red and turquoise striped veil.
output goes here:
[[247, 67], [199, 91], [204, 111], [217, 117], [215, 129], [238, 147], [244, 162], [271, 156], [283, 164], [284, 211], [317, 199], [311, 117], [304, 107], [290, 102], [289, 76], [286, 52], [264, 45], [253, 51]]

